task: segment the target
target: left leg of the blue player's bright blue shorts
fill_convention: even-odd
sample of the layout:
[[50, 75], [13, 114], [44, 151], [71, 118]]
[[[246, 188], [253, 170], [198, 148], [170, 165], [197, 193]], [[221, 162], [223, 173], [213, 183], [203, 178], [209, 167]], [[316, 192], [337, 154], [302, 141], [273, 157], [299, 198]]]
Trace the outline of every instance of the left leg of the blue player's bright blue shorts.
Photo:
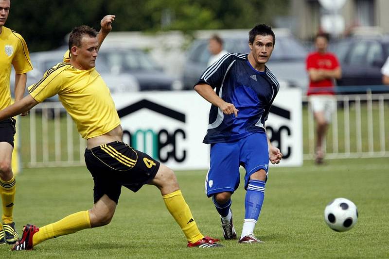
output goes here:
[[211, 146], [210, 170], [205, 179], [208, 197], [234, 192], [239, 186], [239, 143], [215, 143]]

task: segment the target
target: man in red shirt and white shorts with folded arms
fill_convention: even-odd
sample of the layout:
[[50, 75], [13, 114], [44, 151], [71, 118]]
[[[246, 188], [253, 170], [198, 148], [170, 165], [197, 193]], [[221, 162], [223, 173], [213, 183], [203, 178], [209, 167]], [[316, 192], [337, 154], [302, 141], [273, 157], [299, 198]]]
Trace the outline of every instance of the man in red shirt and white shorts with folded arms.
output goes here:
[[323, 162], [323, 140], [331, 115], [336, 108], [334, 81], [342, 77], [342, 70], [335, 54], [327, 52], [328, 34], [320, 33], [315, 38], [316, 51], [309, 53], [306, 69], [309, 74], [307, 95], [317, 123], [316, 163]]

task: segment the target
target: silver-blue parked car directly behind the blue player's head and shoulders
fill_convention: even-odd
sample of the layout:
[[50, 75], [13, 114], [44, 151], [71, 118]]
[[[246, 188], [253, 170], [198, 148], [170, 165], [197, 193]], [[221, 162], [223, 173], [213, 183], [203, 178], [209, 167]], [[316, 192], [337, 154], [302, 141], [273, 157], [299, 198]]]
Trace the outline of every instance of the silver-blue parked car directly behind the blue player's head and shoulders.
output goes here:
[[[289, 87], [308, 86], [308, 75], [305, 71], [305, 58], [307, 51], [286, 29], [274, 29], [276, 42], [269, 62], [266, 64], [277, 77], [281, 85]], [[248, 53], [248, 32], [218, 33], [224, 41], [224, 48], [228, 52]], [[196, 39], [187, 51], [187, 60], [184, 64], [182, 81], [184, 89], [193, 89], [195, 82], [207, 68], [210, 57], [208, 38]]]

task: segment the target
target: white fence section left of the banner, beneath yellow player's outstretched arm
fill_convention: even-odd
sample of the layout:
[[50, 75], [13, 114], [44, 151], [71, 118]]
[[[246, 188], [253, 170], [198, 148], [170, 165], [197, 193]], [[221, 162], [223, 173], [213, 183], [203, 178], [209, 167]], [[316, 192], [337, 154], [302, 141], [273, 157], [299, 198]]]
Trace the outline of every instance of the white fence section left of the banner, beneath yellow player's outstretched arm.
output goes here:
[[[27, 167], [78, 166], [85, 164], [86, 141], [75, 129], [60, 102], [45, 102], [21, 119], [21, 157]], [[28, 120], [28, 121], [27, 121]], [[29, 132], [27, 136], [26, 132]], [[26, 141], [24, 138], [28, 138]], [[29, 146], [29, 152], [23, 147]]]

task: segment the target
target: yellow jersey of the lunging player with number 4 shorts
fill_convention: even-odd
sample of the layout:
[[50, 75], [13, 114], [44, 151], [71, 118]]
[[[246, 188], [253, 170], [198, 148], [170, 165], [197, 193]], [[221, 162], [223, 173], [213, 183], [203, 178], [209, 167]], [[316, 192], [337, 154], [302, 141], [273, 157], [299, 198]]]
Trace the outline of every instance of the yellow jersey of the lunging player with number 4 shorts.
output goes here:
[[78, 70], [70, 63], [58, 63], [28, 90], [37, 102], [57, 94], [85, 139], [101, 136], [120, 125], [109, 89], [94, 67]]

